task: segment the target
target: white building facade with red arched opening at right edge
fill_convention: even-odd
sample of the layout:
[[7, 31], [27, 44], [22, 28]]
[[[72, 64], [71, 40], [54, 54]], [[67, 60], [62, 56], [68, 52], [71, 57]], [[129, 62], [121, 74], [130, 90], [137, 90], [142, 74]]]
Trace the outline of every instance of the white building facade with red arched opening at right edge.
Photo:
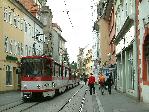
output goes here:
[[136, 0], [138, 48], [138, 96], [149, 103], [149, 6], [148, 0]]

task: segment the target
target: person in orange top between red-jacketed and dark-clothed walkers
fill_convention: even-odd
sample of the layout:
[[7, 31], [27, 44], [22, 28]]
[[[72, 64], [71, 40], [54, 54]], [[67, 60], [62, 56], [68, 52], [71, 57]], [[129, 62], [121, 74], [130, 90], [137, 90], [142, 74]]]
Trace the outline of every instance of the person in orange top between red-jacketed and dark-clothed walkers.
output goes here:
[[104, 94], [104, 88], [105, 88], [105, 76], [104, 76], [103, 73], [101, 73], [99, 75], [98, 82], [99, 82], [99, 86], [100, 86], [100, 89], [101, 89], [101, 94], [103, 95]]

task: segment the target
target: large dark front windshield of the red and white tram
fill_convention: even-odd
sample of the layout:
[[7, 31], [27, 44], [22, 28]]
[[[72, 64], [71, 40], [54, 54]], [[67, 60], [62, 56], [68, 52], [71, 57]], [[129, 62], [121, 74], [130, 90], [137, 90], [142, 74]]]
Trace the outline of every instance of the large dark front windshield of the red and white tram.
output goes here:
[[37, 76], [42, 75], [44, 65], [42, 59], [24, 58], [21, 60], [22, 75]]

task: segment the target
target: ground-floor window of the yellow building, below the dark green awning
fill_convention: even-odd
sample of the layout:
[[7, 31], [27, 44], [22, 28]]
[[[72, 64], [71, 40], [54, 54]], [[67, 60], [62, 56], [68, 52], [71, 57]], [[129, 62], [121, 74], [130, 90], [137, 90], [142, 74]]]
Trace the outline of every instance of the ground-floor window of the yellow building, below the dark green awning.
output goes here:
[[12, 85], [12, 67], [6, 66], [6, 85]]

